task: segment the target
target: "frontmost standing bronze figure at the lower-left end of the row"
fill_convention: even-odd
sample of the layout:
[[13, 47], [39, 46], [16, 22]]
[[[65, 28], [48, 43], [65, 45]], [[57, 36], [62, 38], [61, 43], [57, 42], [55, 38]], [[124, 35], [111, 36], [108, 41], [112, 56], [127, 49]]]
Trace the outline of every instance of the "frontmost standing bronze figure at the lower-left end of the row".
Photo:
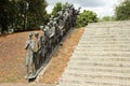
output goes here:
[[25, 49], [26, 49], [26, 76], [25, 78], [27, 78], [29, 74], [32, 74], [35, 72], [35, 68], [34, 68], [35, 41], [32, 40], [31, 32], [29, 33], [29, 38], [26, 41]]

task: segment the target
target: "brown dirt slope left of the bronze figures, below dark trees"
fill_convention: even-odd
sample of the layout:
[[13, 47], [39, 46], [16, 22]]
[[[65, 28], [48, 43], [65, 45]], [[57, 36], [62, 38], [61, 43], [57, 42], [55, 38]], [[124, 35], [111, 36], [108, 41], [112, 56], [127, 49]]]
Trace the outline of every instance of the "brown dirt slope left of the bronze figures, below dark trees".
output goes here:
[[27, 83], [24, 78], [24, 47], [28, 33], [29, 31], [0, 35], [0, 83]]

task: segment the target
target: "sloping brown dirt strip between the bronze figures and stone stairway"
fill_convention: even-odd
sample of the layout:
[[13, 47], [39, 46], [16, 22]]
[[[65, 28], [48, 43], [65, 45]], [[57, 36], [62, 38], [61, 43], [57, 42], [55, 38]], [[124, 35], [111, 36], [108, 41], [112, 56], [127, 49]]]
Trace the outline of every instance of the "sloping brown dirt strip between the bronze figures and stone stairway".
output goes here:
[[83, 31], [84, 28], [76, 29], [72, 35], [63, 43], [63, 46], [60, 47], [57, 53], [52, 57], [48, 69], [40, 80], [40, 83], [56, 84], [58, 82]]

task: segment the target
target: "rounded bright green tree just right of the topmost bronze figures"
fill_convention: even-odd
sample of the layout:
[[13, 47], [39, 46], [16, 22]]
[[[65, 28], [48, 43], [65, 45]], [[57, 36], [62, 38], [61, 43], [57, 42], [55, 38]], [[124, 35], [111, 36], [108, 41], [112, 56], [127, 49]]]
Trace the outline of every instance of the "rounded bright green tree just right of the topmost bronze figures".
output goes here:
[[96, 23], [98, 17], [96, 14], [92, 11], [83, 11], [79, 14], [78, 17], [78, 27], [84, 27], [88, 25], [88, 23]]

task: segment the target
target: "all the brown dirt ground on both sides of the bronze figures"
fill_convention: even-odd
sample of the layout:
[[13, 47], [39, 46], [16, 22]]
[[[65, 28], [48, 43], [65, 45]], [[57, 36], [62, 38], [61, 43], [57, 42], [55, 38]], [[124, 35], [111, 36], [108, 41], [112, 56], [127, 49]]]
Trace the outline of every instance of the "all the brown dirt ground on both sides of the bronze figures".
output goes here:
[[[76, 29], [52, 57], [50, 66], [40, 83], [55, 84], [61, 77], [67, 62], [79, 42], [84, 29]], [[34, 32], [34, 31], [32, 31]], [[42, 33], [41, 31], [39, 31]], [[0, 37], [0, 83], [27, 83], [25, 76], [25, 42], [28, 32]]]

